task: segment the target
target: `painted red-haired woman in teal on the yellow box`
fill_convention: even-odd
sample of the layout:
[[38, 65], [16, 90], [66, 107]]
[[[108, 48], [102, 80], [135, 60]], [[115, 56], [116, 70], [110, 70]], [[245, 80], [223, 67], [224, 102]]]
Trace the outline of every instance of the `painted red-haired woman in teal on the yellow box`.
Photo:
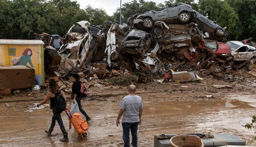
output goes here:
[[27, 66], [27, 63], [30, 64], [30, 66], [34, 69], [34, 66], [31, 61], [31, 56], [32, 56], [32, 50], [27, 48], [25, 51], [22, 53], [21, 57], [16, 57], [15, 60], [12, 59], [13, 65], [24, 65]]

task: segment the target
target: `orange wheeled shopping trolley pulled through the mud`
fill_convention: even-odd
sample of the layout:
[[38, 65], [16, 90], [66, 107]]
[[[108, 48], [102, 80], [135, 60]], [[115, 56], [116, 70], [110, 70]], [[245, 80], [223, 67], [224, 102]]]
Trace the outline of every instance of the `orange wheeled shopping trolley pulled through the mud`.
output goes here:
[[67, 108], [65, 112], [67, 113], [67, 116], [69, 116], [69, 129], [71, 129], [72, 123], [76, 132], [78, 133], [78, 140], [83, 140], [84, 137], [87, 137], [87, 131], [89, 129], [89, 126], [87, 124], [87, 121], [84, 121], [83, 118], [81, 118], [80, 113], [74, 113], [72, 115]]

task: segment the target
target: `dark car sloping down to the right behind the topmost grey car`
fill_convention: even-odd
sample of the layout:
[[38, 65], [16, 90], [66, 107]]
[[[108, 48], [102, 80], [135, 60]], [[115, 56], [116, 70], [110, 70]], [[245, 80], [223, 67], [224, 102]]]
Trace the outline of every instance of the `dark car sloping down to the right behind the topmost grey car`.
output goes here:
[[198, 28], [203, 32], [209, 33], [209, 36], [214, 40], [225, 42], [226, 37], [228, 36], [227, 32], [220, 27], [216, 21], [211, 21], [204, 15], [200, 14], [199, 12], [195, 11], [195, 19], [194, 22], [198, 24]]

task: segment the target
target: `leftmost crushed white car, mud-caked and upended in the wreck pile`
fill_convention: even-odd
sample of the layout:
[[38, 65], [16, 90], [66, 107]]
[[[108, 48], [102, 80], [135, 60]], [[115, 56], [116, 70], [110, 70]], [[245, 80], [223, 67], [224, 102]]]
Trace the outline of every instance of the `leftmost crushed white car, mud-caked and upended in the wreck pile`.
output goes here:
[[87, 57], [91, 48], [92, 34], [88, 32], [88, 21], [78, 22], [81, 27], [73, 25], [66, 35], [61, 38], [62, 46], [58, 53], [62, 56], [59, 70], [70, 71], [79, 68]]

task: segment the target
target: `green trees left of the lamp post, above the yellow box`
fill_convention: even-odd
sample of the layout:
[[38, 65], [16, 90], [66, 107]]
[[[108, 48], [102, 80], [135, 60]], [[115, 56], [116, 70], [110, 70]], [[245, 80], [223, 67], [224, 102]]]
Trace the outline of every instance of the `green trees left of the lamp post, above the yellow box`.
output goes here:
[[0, 0], [0, 38], [33, 39], [33, 33], [63, 36], [81, 20], [103, 24], [109, 16], [103, 9], [80, 9], [71, 0]]

